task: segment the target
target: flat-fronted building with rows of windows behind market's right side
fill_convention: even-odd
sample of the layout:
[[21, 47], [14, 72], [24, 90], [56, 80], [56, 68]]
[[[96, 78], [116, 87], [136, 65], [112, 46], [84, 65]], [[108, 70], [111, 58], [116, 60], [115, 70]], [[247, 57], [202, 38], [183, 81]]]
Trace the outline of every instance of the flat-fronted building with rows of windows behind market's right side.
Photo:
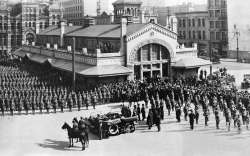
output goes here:
[[176, 13], [178, 20], [178, 42], [187, 47], [197, 43], [199, 55], [209, 51], [208, 11]]

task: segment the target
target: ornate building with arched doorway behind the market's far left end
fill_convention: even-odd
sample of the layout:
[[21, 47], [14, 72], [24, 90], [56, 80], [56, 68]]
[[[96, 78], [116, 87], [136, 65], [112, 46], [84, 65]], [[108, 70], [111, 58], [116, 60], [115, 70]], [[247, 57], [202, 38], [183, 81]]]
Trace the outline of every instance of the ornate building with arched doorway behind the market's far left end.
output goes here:
[[[19, 24], [15, 32], [16, 40], [13, 46], [19, 46], [22, 41], [32, 43], [36, 40], [36, 34], [49, 26], [48, 5], [34, 1], [22, 1], [15, 4], [11, 10], [11, 16], [15, 19], [13, 24]], [[44, 26], [40, 26], [44, 25]]]

